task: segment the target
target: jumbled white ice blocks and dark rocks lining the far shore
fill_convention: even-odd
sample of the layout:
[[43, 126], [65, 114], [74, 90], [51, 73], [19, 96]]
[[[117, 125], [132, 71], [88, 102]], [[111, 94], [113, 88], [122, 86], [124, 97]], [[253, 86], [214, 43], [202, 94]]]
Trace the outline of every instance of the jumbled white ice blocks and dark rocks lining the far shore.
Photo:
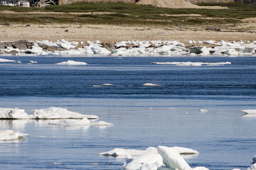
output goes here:
[[[66, 41], [0, 41], [0, 55], [202, 55], [202, 56], [256, 56], [256, 41], [187, 41], [199, 46], [187, 46], [179, 41], [121, 41], [113, 46], [100, 41], [87, 41], [86, 46], [79, 42]], [[81, 44], [81, 43], [80, 43]], [[82, 43], [84, 44], [84, 43]], [[204, 46], [204, 44], [206, 46]], [[212, 47], [208, 47], [211, 44]], [[80, 47], [80, 48], [79, 48]], [[1, 61], [1, 60], [0, 60]], [[6, 61], [7, 62], [7, 61]], [[59, 63], [60, 64], [60, 63]], [[63, 63], [65, 64], [65, 63]], [[72, 64], [72, 63], [71, 63]], [[81, 63], [80, 63], [81, 64]]]

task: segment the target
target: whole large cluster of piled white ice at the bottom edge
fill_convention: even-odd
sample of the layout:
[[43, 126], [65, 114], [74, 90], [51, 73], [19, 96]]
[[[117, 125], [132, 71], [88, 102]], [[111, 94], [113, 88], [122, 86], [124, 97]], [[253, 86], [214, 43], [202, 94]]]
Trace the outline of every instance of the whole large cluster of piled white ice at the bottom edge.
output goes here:
[[[108, 152], [98, 153], [108, 156], [127, 156], [122, 170], [192, 170], [181, 156], [182, 154], [199, 154], [196, 150], [184, 147], [158, 146], [146, 150], [116, 148]], [[208, 170], [206, 167], [196, 167], [195, 170]]]

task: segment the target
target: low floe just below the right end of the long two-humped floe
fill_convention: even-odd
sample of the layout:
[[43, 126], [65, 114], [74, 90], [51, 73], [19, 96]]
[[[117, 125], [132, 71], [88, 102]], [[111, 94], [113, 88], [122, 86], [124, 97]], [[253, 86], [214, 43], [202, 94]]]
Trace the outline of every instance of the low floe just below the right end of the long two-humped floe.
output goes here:
[[55, 124], [55, 125], [61, 125], [61, 126], [111, 126], [114, 125], [112, 123], [108, 123], [108, 122], [103, 122], [103, 121], [99, 121], [99, 122], [94, 122], [91, 123], [90, 120], [88, 120], [87, 118], [83, 118], [82, 120], [76, 120], [76, 119], [64, 119], [64, 120], [60, 120], [57, 123], [50, 123], [50, 124]]

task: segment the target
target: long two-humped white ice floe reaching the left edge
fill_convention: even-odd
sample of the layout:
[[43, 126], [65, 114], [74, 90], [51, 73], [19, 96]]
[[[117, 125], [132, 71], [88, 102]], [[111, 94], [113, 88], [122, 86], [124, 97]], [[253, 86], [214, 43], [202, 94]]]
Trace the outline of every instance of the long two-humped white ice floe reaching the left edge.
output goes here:
[[68, 111], [66, 108], [50, 107], [25, 112], [19, 108], [0, 108], [0, 119], [97, 119], [98, 116]]

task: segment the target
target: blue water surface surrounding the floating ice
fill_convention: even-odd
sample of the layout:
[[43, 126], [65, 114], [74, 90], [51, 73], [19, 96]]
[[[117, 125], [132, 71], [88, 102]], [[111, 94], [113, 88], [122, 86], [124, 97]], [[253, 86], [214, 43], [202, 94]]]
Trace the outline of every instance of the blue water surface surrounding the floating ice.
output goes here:
[[[0, 107], [51, 106], [95, 114], [114, 126], [63, 127], [52, 120], [0, 120], [0, 130], [29, 136], [0, 142], [0, 169], [120, 170], [125, 158], [97, 153], [116, 147], [181, 146], [200, 154], [185, 160], [211, 170], [246, 169], [256, 155], [256, 58], [25, 57], [0, 63]], [[30, 60], [37, 64], [26, 64]], [[86, 66], [59, 66], [67, 60]], [[224, 66], [151, 62], [231, 62]], [[92, 87], [111, 83], [114, 86]], [[144, 83], [162, 86], [145, 87]], [[199, 112], [207, 109], [208, 112]], [[188, 112], [188, 114], [186, 114]], [[60, 164], [52, 164], [60, 163]]]

